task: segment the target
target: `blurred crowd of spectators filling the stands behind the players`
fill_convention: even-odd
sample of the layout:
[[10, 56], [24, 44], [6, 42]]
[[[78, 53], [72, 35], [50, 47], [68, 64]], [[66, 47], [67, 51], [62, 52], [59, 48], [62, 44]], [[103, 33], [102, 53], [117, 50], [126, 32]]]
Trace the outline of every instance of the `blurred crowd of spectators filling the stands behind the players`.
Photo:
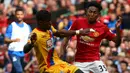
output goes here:
[[[10, 73], [12, 64], [8, 56], [8, 44], [4, 43], [7, 26], [15, 19], [17, 7], [25, 9], [24, 21], [32, 29], [36, 26], [35, 14], [47, 9], [52, 14], [52, 24], [57, 30], [68, 30], [73, 21], [85, 17], [84, 3], [92, 0], [0, 0], [0, 73]], [[110, 73], [130, 73], [130, 0], [96, 0], [101, 3], [100, 21], [115, 33], [115, 24], [119, 16], [122, 17], [122, 42], [119, 47], [115, 43], [104, 39], [100, 46], [101, 59]], [[81, 24], [82, 25], [82, 24]], [[63, 38], [57, 37], [56, 50], [60, 56]], [[76, 37], [74, 36], [66, 48], [63, 60], [73, 63], [76, 52]], [[38, 63], [30, 52], [25, 55], [25, 73], [39, 73]]]

